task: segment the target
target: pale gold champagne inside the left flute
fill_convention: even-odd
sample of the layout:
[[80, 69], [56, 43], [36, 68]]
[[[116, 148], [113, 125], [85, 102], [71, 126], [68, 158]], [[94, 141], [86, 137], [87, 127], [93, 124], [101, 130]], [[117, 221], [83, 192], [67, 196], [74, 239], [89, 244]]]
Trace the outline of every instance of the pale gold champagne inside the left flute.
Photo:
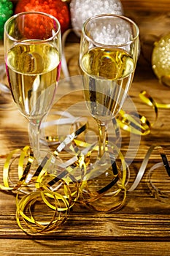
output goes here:
[[12, 96], [27, 118], [44, 116], [55, 95], [60, 72], [58, 51], [49, 43], [16, 44], [7, 54]]

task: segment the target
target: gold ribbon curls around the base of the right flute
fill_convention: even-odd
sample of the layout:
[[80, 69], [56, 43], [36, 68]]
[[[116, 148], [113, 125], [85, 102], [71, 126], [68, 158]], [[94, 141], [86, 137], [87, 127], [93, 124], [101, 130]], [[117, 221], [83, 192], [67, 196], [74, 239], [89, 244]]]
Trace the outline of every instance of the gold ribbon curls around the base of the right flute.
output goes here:
[[[127, 179], [127, 165], [125, 164], [123, 155], [118, 151], [116, 146], [114, 146], [114, 150], [117, 151], [118, 157], [120, 158], [121, 170], [115, 160], [112, 146], [107, 146], [107, 153], [110, 159], [109, 166], [106, 168], [106, 171], [101, 171], [102, 165], [100, 161], [97, 161], [97, 165], [94, 164], [93, 167], [89, 166], [89, 168], [87, 168], [80, 186], [80, 199], [78, 203], [82, 203], [96, 211], [105, 212], [117, 211], [124, 205], [126, 197], [125, 181]], [[100, 172], [101, 175], [93, 178], [96, 173]], [[107, 178], [107, 176], [109, 178]], [[98, 184], [96, 184], [96, 182]], [[96, 187], [94, 187], [94, 184], [96, 184]]]

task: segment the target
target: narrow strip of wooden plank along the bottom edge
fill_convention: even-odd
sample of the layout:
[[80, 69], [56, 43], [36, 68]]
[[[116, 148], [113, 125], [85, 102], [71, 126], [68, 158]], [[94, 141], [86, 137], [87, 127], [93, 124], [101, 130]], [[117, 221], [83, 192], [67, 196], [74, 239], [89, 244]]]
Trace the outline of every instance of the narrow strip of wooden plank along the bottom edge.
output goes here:
[[0, 240], [0, 254], [13, 255], [69, 255], [69, 256], [107, 256], [107, 255], [169, 255], [169, 242], [136, 241], [61, 241], [61, 240]]

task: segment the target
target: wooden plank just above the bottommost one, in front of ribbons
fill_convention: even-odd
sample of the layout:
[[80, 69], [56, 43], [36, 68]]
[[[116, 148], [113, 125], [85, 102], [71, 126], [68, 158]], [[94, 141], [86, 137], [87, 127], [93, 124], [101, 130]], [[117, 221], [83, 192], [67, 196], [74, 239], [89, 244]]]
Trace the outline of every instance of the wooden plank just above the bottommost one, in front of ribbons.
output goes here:
[[[134, 175], [132, 173], [134, 178]], [[161, 182], [161, 178], [158, 177]], [[160, 185], [160, 184], [158, 184]], [[164, 183], [169, 187], [169, 182]], [[164, 187], [165, 189], [165, 187]], [[42, 238], [27, 236], [18, 227], [15, 218], [15, 197], [1, 192], [0, 238]], [[39, 215], [39, 212], [35, 215]], [[45, 213], [47, 215], [47, 212]], [[145, 178], [134, 192], [128, 192], [125, 206], [113, 213], [96, 213], [82, 206], [74, 206], [69, 218], [56, 233], [45, 238], [66, 240], [150, 240], [170, 241], [169, 203], [161, 203], [150, 196]]]

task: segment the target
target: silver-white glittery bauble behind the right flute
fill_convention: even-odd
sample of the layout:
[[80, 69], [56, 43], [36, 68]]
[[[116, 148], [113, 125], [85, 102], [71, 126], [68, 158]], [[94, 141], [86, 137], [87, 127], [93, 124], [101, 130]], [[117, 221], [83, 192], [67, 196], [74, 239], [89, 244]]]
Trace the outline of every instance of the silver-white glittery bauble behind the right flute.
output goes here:
[[123, 14], [120, 0], [72, 0], [70, 3], [71, 22], [74, 32], [80, 37], [82, 24], [88, 18], [105, 13]]

